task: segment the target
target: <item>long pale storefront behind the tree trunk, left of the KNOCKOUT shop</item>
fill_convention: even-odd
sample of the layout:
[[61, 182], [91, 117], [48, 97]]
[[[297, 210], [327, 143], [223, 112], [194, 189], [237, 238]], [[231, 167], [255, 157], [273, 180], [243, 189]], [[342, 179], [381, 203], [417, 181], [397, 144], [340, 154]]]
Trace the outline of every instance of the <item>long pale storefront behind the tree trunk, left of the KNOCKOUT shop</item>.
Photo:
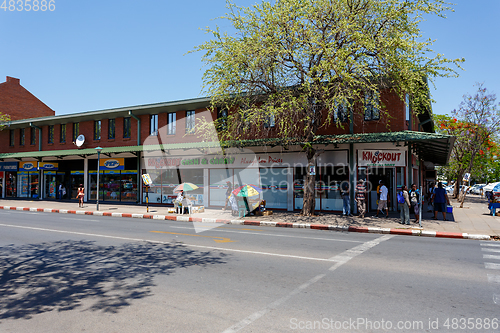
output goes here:
[[[324, 152], [318, 158], [318, 210], [342, 209], [338, 186], [349, 179], [347, 156], [347, 150], [337, 150]], [[147, 157], [142, 173], [149, 173], [153, 181], [148, 193], [150, 203], [171, 204], [177, 196], [173, 189], [180, 183], [190, 182], [199, 186], [199, 189], [188, 193], [194, 204], [224, 207], [229, 182], [233, 189], [244, 184], [258, 186], [268, 208], [298, 210], [303, 205], [306, 165], [305, 154], [300, 152], [233, 152], [200, 157]], [[147, 190], [143, 188], [143, 202]]]

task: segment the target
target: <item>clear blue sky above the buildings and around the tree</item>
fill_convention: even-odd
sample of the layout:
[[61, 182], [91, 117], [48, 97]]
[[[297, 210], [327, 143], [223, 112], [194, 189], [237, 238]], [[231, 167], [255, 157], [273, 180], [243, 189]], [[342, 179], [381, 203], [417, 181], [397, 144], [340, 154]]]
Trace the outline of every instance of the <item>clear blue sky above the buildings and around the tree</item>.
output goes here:
[[[53, 11], [27, 11], [21, 1], [11, 11], [2, 2], [0, 82], [19, 78], [56, 115], [205, 97], [202, 54], [188, 52], [210, 39], [207, 26], [231, 31], [214, 20], [226, 13], [225, 0], [52, 0]], [[446, 19], [421, 24], [434, 51], [466, 60], [458, 78], [431, 86], [437, 114], [458, 108], [476, 82], [500, 99], [500, 0], [454, 3]]]

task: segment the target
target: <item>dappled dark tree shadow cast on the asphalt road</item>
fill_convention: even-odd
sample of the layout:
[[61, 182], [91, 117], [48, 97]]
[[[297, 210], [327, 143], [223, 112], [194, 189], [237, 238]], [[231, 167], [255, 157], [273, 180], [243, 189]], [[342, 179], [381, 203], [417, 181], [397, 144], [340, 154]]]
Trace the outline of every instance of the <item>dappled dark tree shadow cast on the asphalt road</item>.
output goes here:
[[116, 313], [152, 295], [154, 277], [193, 265], [224, 264], [223, 253], [180, 243], [99, 246], [91, 241], [0, 248], [0, 320], [31, 318], [94, 302], [92, 311]]

